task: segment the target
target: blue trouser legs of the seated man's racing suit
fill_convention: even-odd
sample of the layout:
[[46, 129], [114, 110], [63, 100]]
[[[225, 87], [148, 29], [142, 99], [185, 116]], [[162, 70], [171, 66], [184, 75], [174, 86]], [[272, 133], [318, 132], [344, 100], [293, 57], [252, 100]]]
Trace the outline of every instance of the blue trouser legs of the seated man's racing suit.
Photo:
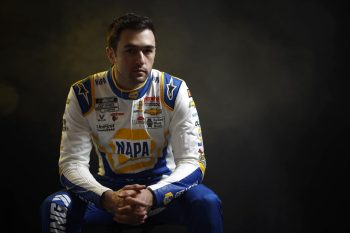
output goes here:
[[[115, 183], [100, 176], [97, 176], [96, 179], [113, 189], [126, 185], [125, 182]], [[45, 199], [41, 205], [41, 221], [43, 233], [49, 233], [50, 227], [56, 232], [79, 233], [84, 224], [92, 226], [116, 224], [111, 214], [93, 203], [84, 202], [65, 190]], [[149, 217], [149, 221], [183, 225], [188, 228], [189, 233], [223, 232], [221, 201], [212, 190], [203, 184], [187, 190], [163, 211]]]

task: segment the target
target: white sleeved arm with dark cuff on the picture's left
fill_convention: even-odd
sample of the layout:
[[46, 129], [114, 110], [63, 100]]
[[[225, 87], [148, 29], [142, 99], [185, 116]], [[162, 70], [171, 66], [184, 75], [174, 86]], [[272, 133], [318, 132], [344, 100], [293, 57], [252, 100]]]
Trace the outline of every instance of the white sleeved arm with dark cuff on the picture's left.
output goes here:
[[86, 201], [99, 205], [101, 195], [110, 189], [98, 183], [90, 173], [91, 130], [73, 88], [67, 98], [63, 124], [59, 159], [61, 183]]

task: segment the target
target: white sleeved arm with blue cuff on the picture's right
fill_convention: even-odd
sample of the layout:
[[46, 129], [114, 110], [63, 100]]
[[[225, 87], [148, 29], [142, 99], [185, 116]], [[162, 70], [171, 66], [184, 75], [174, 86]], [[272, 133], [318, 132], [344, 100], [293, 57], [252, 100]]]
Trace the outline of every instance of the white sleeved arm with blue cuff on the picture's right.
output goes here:
[[200, 183], [206, 166], [195, 104], [186, 83], [182, 81], [179, 88], [169, 126], [169, 143], [176, 168], [170, 176], [149, 186], [154, 193], [156, 207], [168, 204]]

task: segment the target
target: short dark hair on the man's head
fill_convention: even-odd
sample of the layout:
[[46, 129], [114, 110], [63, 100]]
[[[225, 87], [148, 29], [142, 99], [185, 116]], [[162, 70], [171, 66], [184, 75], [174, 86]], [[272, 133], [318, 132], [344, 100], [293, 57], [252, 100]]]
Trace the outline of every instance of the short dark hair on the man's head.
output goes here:
[[115, 20], [109, 25], [107, 32], [107, 46], [116, 49], [120, 35], [123, 30], [145, 30], [149, 29], [155, 34], [155, 28], [153, 22], [147, 16], [140, 16], [135, 13], [126, 13]]

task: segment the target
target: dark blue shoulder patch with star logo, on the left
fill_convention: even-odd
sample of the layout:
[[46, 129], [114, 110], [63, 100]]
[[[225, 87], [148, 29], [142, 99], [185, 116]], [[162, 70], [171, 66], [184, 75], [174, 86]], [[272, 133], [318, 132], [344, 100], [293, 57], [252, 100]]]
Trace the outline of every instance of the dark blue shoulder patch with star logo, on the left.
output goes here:
[[74, 93], [78, 99], [82, 113], [85, 115], [93, 108], [94, 83], [93, 76], [89, 76], [73, 84]]

